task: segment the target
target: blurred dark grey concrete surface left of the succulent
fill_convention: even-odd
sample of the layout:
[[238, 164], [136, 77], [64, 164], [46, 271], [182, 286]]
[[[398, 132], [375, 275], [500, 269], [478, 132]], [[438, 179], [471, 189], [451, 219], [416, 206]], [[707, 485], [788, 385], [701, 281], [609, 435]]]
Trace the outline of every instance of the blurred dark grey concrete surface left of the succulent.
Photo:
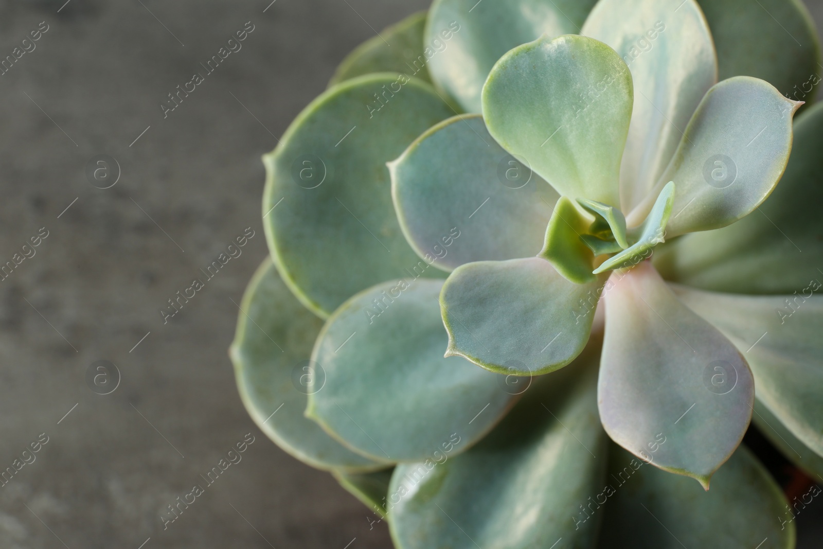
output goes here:
[[[0, 488], [0, 547], [390, 546], [253, 425], [226, 348], [232, 300], [267, 254], [259, 156], [370, 26], [427, 2], [270, 1], [0, 3], [0, 57], [49, 25], [0, 76], [0, 263], [49, 231], [0, 282], [0, 469], [49, 436]], [[164, 119], [165, 95], [246, 21], [243, 48]], [[112, 188], [86, 180], [98, 154], [119, 161]], [[164, 325], [158, 309], [249, 226], [243, 254]], [[86, 386], [98, 360], [122, 375], [109, 395]], [[166, 505], [246, 433], [243, 460], [164, 530]]]

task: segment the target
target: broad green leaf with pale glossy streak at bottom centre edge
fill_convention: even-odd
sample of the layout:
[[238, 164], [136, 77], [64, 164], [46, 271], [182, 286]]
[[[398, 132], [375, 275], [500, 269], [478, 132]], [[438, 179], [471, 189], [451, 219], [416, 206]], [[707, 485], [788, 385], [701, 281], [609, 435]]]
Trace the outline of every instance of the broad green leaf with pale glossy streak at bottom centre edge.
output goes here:
[[607, 462], [591, 367], [597, 347], [587, 354], [535, 379], [466, 453], [395, 469], [388, 501], [397, 547], [547, 549], [560, 538], [557, 547], [593, 546], [597, 523], [571, 518], [601, 489]]

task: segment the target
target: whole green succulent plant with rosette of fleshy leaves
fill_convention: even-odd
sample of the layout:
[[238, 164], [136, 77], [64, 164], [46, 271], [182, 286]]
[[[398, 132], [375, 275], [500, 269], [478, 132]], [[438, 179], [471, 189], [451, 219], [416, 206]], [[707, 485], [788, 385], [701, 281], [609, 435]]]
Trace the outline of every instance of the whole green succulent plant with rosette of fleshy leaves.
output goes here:
[[823, 480], [820, 55], [756, 3], [435, 0], [361, 44], [263, 156], [258, 426], [397, 547], [793, 547], [741, 440]]

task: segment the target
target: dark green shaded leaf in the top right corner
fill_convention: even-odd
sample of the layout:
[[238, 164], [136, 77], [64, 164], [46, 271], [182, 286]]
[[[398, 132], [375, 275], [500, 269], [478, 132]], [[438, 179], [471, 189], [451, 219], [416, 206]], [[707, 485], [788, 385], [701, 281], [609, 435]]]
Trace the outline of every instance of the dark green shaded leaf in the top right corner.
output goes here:
[[814, 22], [798, 0], [700, 0], [720, 79], [762, 78], [796, 101], [813, 101], [820, 67]]

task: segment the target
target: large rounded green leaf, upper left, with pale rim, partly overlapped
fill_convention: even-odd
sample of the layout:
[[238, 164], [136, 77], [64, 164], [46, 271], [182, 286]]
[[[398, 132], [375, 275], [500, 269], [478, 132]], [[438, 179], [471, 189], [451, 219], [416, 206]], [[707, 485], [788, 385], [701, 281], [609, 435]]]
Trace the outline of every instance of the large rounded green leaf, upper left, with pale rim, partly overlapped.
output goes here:
[[312, 101], [263, 156], [269, 250], [314, 313], [328, 316], [356, 292], [417, 266], [425, 277], [443, 276], [402, 235], [385, 164], [451, 113], [424, 82], [358, 77]]

